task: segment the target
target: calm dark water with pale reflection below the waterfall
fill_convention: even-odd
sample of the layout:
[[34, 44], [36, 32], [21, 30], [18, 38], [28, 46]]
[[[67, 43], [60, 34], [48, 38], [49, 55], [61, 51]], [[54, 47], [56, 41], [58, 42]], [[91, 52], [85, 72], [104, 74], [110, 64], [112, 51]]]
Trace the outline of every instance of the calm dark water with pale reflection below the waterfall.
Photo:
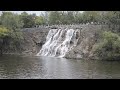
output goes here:
[[120, 78], [120, 62], [72, 60], [51, 57], [0, 57], [0, 79], [91, 78]]

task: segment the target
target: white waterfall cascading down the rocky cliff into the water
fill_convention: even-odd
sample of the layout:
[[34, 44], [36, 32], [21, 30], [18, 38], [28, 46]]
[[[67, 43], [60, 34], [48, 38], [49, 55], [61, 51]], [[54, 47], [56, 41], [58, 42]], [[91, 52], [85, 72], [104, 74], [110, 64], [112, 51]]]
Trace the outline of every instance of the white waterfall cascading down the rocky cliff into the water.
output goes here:
[[37, 56], [64, 57], [78, 42], [79, 29], [51, 29]]

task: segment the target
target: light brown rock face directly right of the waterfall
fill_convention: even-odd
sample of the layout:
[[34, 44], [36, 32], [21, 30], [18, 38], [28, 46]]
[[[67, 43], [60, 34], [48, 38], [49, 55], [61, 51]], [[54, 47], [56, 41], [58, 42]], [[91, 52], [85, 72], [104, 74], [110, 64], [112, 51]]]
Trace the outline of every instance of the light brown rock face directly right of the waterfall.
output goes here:
[[81, 30], [76, 47], [66, 54], [66, 58], [87, 58], [92, 53], [92, 47], [97, 42], [97, 35], [102, 30], [101, 26], [85, 26]]

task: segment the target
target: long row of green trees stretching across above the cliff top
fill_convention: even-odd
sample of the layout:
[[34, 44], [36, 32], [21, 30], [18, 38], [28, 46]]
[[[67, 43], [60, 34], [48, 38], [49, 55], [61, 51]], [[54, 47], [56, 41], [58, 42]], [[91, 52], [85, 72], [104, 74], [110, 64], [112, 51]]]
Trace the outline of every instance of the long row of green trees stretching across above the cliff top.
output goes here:
[[35, 13], [28, 14], [23, 12], [20, 15], [12, 12], [2, 12], [0, 16], [0, 25], [9, 28], [31, 28], [36, 25], [53, 24], [81, 24], [81, 23], [99, 23], [99, 24], [119, 24], [120, 11], [46, 11], [40, 16]]

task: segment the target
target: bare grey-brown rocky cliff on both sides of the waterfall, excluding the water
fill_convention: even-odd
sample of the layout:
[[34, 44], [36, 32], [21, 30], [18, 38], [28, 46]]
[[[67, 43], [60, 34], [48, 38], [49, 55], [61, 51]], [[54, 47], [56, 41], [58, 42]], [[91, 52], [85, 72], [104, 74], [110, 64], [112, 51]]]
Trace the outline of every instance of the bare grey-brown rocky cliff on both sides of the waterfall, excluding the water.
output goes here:
[[[82, 27], [82, 29], [81, 29]], [[91, 55], [93, 45], [97, 42], [98, 34], [105, 30], [104, 25], [79, 25], [79, 27], [53, 27], [54, 29], [79, 30], [79, 39], [76, 46], [65, 54], [65, 58], [83, 58]], [[22, 29], [24, 40], [21, 43], [22, 55], [36, 55], [46, 43], [46, 37], [52, 27], [26, 28]]]

